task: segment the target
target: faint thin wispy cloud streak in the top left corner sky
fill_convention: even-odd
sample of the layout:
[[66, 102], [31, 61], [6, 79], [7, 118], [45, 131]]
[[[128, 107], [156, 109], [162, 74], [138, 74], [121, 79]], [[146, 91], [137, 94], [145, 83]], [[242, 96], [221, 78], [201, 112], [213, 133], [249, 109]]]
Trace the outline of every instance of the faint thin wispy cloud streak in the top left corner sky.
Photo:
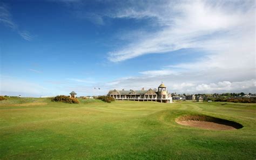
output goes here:
[[6, 6], [4, 3], [1, 3], [1, 2], [0, 2], [0, 23], [16, 31], [19, 35], [21, 35], [23, 39], [28, 41], [32, 40], [32, 36], [31, 34], [29, 34], [28, 31], [19, 30], [18, 25], [12, 20], [12, 15], [9, 12], [8, 6]]

